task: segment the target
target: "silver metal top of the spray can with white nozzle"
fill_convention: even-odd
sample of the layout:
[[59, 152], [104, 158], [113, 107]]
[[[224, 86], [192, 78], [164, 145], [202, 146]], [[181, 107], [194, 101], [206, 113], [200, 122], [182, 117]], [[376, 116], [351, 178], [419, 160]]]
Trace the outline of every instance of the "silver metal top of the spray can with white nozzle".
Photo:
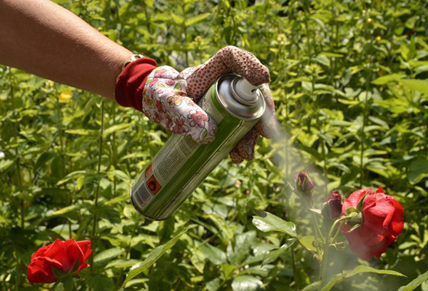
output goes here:
[[225, 111], [236, 118], [252, 121], [260, 118], [265, 112], [265, 99], [258, 86], [234, 73], [218, 79], [215, 93]]

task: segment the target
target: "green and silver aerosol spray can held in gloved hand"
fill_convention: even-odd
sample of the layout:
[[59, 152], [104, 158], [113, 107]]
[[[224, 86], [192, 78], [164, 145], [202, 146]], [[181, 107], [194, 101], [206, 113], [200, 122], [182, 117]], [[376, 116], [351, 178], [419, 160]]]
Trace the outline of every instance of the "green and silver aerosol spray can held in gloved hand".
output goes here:
[[151, 220], [165, 220], [250, 131], [265, 111], [257, 86], [235, 74], [221, 76], [198, 105], [218, 123], [210, 144], [174, 134], [131, 187], [134, 208]]

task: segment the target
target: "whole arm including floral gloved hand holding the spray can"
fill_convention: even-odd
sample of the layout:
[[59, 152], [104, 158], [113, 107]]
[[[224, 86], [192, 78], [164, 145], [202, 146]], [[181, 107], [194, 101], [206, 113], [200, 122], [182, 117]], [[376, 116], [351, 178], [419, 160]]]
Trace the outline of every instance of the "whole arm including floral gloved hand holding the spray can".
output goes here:
[[[116, 100], [122, 106], [142, 111], [168, 131], [192, 136], [200, 143], [213, 140], [215, 122], [196, 103], [215, 79], [230, 72], [240, 74], [254, 85], [270, 79], [269, 71], [255, 56], [228, 46], [203, 65], [186, 69], [185, 73], [179, 74], [169, 67], [168, 78], [158, 78], [162, 80], [159, 84], [165, 84], [164, 88], [153, 87], [149, 96], [146, 80], [156, 68], [156, 61], [144, 58], [122, 70], [123, 63], [132, 54], [52, 1], [0, 0], [0, 63]], [[174, 83], [173, 88], [181, 82], [180, 92], [170, 88], [170, 82]], [[253, 158], [259, 134], [269, 137], [263, 128], [272, 128], [275, 108], [270, 91], [267, 95], [272, 114], [265, 118], [268, 122], [258, 123], [233, 150], [231, 156], [237, 163]], [[156, 101], [151, 98], [151, 103], [143, 102], [144, 98], [153, 96]], [[168, 98], [173, 97], [185, 100], [183, 106], [170, 106]], [[195, 110], [196, 114], [190, 114]], [[201, 124], [191, 118], [206, 122], [200, 127]], [[190, 126], [194, 122], [200, 126]], [[182, 126], [189, 130], [183, 132]]]

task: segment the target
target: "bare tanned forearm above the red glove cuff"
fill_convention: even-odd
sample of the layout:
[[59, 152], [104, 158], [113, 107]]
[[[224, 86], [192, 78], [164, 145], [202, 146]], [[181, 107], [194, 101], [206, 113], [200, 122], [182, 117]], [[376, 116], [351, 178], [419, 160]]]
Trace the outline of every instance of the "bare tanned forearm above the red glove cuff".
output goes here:
[[0, 0], [0, 63], [114, 98], [131, 51], [49, 0]]

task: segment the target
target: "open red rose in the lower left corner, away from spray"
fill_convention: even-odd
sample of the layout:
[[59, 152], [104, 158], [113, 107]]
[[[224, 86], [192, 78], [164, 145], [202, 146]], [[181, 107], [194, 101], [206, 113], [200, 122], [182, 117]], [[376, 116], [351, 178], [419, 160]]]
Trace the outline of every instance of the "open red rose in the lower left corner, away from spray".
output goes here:
[[[85, 263], [91, 255], [91, 240], [81, 240], [76, 242], [71, 240], [55, 240], [54, 243], [39, 248], [31, 257], [29, 265], [29, 282], [31, 283], [52, 283], [58, 280], [54, 275], [53, 267], [63, 272], [70, 272], [73, 265], [78, 264], [75, 273], [89, 267]], [[78, 260], [78, 262], [76, 262]]]

